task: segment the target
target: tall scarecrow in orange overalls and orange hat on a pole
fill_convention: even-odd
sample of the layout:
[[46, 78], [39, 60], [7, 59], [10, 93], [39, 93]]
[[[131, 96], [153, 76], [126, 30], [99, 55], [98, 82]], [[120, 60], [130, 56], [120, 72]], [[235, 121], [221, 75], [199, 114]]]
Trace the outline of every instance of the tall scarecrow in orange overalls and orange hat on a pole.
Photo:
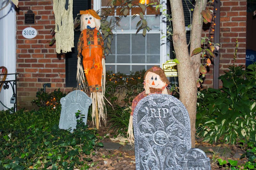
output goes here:
[[[93, 125], [99, 129], [100, 120], [106, 124], [106, 107], [104, 103], [105, 93], [105, 55], [104, 43], [99, 32], [100, 16], [94, 10], [80, 11], [81, 34], [77, 43], [77, 81], [84, 86], [84, 74], [86, 76], [92, 98]], [[81, 52], [83, 67], [81, 66]]]

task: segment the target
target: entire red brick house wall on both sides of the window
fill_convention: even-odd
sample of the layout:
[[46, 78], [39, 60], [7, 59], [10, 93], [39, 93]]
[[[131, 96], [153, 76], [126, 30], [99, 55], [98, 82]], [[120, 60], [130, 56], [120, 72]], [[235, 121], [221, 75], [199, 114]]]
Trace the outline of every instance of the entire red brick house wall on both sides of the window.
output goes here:
[[[19, 1], [20, 10], [16, 14], [19, 108], [31, 108], [31, 100], [36, 98], [36, 92], [43, 88], [44, 83], [52, 84], [47, 91], [58, 88], [71, 91], [65, 87], [65, 56], [56, 54], [55, 45], [49, 46], [52, 39], [50, 30], [55, 26], [52, 5], [52, 0]], [[35, 25], [24, 25], [24, 13], [29, 9], [36, 15]], [[239, 49], [236, 64], [245, 64], [246, 0], [221, 0], [220, 17], [220, 74], [223, 74], [233, 63], [237, 37]], [[22, 30], [26, 27], [35, 28], [37, 36], [33, 39], [24, 38]], [[205, 76], [204, 88], [212, 87], [212, 68], [213, 65]]]

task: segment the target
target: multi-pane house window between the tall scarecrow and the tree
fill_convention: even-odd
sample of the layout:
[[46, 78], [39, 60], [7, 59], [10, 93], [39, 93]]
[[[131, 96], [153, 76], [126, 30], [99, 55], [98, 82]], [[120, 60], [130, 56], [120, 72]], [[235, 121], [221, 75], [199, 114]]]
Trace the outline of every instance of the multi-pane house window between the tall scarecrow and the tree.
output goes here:
[[[140, 1], [132, 1], [138, 2]], [[107, 4], [108, 0], [101, 0], [101, 3], [94, 1], [94, 7], [98, 6], [102, 10], [107, 8]], [[146, 17], [151, 30], [143, 37], [142, 30], [136, 34], [136, 25], [140, 17], [133, 15], [137, 13], [140, 13], [140, 8], [133, 7], [120, 21], [120, 27], [117, 26], [113, 31], [115, 35], [111, 44], [112, 54], [106, 56], [106, 70], [130, 74], [131, 71], [147, 70], [154, 65], [161, 66], [166, 61], [166, 39], [161, 39], [165, 34], [163, 30], [166, 30], [166, 25], [162, 22], [164, 18], [155, 9], [147, 8]], [[119, 14], [120, 9], [116, 8], [115, 16]], [[110, 17], [112, 16], [109, 16], [109, 20]]]

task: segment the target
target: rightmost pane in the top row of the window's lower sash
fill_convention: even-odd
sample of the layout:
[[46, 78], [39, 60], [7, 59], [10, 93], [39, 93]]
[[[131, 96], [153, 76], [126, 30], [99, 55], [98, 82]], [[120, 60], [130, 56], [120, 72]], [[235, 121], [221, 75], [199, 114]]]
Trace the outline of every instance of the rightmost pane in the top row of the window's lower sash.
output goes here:
[[147, 34], [147, 54], [160, 54], [159, 34]]

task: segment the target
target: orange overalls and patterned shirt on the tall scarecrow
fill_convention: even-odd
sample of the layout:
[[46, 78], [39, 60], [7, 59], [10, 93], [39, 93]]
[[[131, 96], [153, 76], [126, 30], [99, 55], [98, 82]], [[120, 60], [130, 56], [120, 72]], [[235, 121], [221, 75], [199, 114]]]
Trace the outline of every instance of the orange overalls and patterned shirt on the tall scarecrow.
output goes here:
[[77, 43], [77, 51], [80, 57], [83, 55], [84, 73], [90, 88], [90, 92], [102, 92], [102, 58], [104, 55], [104, 43], [100, 32], [94, 29], [84, 29]]

